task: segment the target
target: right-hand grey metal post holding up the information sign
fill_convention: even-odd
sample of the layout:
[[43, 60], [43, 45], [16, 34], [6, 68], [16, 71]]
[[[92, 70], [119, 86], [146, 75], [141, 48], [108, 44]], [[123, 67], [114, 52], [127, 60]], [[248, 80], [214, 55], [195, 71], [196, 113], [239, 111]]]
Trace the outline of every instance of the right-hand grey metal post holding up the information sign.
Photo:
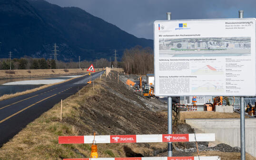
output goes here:
[[[239, 10], [239, 19], [244, 18], [244, 11]], [[246, 160], [246, 137], [245, 137], [245, 98], [240, 97], [240, 145], [241, 160]]]

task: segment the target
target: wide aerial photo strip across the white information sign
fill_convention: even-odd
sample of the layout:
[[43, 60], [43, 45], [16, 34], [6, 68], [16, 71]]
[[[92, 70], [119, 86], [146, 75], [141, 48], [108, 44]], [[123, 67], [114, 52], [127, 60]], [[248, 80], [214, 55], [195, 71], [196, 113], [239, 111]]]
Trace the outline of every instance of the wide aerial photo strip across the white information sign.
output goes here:
[[160, 38], [160, 57], [250, 56], [250, 37]]

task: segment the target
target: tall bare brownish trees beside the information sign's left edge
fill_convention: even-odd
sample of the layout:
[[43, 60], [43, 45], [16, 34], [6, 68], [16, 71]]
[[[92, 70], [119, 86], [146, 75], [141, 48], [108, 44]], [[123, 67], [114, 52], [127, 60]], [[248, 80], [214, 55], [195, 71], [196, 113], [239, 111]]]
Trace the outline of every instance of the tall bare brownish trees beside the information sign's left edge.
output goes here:
[[154, 73], [154, 55], [150, 47], [136, 46], [126, 49], [122, 57], [122, 65], [126, 73], [146, 75]]

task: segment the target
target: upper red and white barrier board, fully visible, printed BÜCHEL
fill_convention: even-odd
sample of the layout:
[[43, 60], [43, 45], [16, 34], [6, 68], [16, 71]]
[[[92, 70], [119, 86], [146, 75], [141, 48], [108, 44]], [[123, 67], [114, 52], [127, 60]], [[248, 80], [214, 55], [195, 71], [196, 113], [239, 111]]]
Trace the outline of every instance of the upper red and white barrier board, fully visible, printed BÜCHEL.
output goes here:
[[[94, 136], [59, 136], [59, 144], [92, 143]], [[214, 133], [197, 133], [197, 141], [215, 141]], [[195, 141], [195, 134], [98, 135], [96, 143], [149, 143]]]

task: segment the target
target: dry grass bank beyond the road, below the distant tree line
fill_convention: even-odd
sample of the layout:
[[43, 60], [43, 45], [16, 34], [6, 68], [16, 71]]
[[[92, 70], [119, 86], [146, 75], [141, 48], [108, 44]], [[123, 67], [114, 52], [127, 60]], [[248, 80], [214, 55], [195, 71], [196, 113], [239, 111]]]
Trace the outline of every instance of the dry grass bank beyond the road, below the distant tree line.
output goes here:
[[[96, 71], [101, 71], [102, 68], [95, 68]], [[25, 77], [42, 77], [51, 75], [76, 75], [88, 73], [86, 70], [80, 69], [22, 69], [12, 70], [15, 74], [10, 74], [10, 70], [0, 70], [0, 79], [8, 78], [25, 78]], [[67, 72], [68, 71], [68, 72]]]

